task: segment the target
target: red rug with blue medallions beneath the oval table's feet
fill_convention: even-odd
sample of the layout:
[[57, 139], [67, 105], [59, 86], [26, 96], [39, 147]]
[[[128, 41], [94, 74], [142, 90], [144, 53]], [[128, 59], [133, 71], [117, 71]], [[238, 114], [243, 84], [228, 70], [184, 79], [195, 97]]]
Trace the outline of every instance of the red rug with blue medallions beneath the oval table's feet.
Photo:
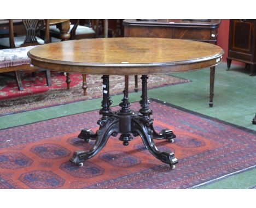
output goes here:
[[139, 137], [128, 146], [109, 138], [83, 167], [68, 162], [74, 150], [94, 143], [77, 138], [84, 127], [97, 130], [100, 115], [91, 111], [1, 130], [0, 188], [191, 188], [255, 167], [255, 131], [156, 101], [150, 108], [156, 130], [177, 136], [173, 144], [156, 140], [160, 151], [175, 152], [176, 169], [151, 155]]

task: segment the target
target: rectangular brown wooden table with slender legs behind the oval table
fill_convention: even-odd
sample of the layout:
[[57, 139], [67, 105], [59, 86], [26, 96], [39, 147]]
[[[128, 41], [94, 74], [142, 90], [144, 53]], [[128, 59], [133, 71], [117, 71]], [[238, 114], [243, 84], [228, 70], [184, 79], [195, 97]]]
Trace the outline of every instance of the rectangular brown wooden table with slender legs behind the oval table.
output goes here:
[[[125, 37], [150, 37], [188, 39], [217, 44], [220, 20], [124, 20]], [[210, 107], [213, 106], [215, 67], [210, 72]], [[126, 76], [126, 89], [128, 77]], [[138, 90], [138, 77], [135, 77], [135, 91]]]

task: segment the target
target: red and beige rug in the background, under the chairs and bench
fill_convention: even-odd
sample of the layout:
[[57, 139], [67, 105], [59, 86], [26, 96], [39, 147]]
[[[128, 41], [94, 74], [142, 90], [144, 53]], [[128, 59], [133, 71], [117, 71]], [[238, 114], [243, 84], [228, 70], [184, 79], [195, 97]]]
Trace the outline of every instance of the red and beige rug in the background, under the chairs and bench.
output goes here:
[[[150, 75], [148, 88], [190, 82], [168, 75]], [[94, 99], [102, 96], [102, 79], [100, 75], [87, 75], [88, 95], [83, 96], [82, 75], [71, 74], [71, 89], [66, 89], [66, 77], [60, 72], [51, 72], [52, 86], [46, 85], [43, 73], [31, 77], [23, 74], [24, 91], [18, 90], [15, 79], [0, 76], [0, 114], [28, 111], [64, 103]], [[129, 91], [135, 86], [134, 76], [129, 77]], [[138, 81], [139, 89], [141, 82]], [[110, 94], [121, 94], [124, 90], [124, 76], [110, 76]]]

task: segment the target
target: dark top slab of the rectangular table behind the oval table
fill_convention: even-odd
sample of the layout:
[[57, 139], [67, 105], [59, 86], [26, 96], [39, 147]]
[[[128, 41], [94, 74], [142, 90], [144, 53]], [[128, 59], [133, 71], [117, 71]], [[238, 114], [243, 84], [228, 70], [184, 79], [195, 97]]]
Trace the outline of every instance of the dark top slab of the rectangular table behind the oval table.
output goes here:
[[188, 27], [218, 27], [221, 20], [177, 20], [177, 19], [159, 19], [156, 21], [145, 21], [145, 20], [124, 20], [124, 26], [135, 26], [135, 25], [147, 25], [147, 26], [169, 26], [169, 27], [178, 27], [178, 26], [188, 26]]

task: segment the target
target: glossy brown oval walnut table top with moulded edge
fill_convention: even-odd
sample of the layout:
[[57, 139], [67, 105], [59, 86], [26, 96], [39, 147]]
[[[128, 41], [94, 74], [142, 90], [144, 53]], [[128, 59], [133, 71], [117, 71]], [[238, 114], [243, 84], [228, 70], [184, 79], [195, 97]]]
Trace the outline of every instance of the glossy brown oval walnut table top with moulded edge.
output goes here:
[[148, 75], [217, 65], [222, 48], [191, 40], [99, 38], [56, 42], [28, 52], [40, 68], [82, 74]]

